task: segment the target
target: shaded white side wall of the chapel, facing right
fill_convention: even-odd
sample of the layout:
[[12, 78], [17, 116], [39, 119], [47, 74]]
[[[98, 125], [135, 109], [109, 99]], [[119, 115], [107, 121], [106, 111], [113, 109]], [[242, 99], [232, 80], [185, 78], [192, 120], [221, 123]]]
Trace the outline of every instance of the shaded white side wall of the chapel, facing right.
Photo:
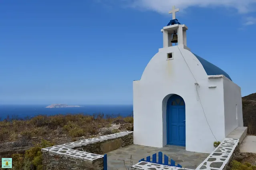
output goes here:
[[[225, 135], [228, 136], [237, 127], [243, 127], [241, 88], [230, 79], [223, 78]], [[237, 105], [237, 110], [236, 110]], [[237, 112], [237, 117], [236, 117]]]

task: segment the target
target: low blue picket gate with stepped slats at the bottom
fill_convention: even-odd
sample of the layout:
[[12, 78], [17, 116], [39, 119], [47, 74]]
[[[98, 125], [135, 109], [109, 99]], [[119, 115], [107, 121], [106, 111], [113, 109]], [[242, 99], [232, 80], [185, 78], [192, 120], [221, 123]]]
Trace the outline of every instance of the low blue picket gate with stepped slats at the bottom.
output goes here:
[[141, 162], [141, 161], [157, 163], [157, 164], [161, 164], [161, 165], [176, 166], [176, 167], [182, 168], [182, 166], [180, 164], [175, 165], [175, 161], [172, 159], [171, 159], [171, 164], [169, 164], [169, 157], [166, 155], [164, 155], [164, 162], [163, 162], [163, 153], [162, 152], [158, 152], [158, 162], [157, 162], [157, 154], [156, 153], [152, 155], [152, 161], [151, 161], [150, 156], [147, 156], [146, 160], [144, 158], [139, 160], [139, 162]]

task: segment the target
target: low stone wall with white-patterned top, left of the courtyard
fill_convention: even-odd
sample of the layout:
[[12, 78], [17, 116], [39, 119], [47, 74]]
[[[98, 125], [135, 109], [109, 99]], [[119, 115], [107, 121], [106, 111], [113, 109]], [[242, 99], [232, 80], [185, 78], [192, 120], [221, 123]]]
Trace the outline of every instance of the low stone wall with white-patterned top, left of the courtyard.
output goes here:
[[42, 148], [44, 170], [103, 170], [104, 156], [133, 144], [133, 132], [125, 131]]

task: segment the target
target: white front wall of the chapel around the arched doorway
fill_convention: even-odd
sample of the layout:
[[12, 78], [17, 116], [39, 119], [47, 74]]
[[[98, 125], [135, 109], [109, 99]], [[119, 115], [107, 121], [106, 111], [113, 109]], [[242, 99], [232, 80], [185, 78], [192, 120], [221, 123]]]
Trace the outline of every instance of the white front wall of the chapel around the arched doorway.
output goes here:
[[[167, 60], [170, 52], [173, 59]], [[196, 81], [204, 111], [198, 101]], [[133, 81], [134, 144], [166, 145], [166, 103], [171, 94], [180, 95], [185, 101], [186, 150], [211, 153], [213, 142], [225, 138], [223, 79], [208, 79], [200, 61], [183, 45], [159, 49], [141, 80]]]

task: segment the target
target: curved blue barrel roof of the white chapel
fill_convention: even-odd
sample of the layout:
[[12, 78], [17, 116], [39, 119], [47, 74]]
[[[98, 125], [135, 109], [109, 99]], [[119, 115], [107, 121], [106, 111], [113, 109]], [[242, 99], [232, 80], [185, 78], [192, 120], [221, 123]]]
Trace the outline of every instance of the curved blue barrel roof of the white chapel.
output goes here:
[[232, 81], [232, 79], [229, 77], [229, 75], [225, 71], [223, 71], [216, 65], [210, 63], [209, 61], [206, 61], [205, 59], [199, 57], [198, 55], [196, 55], [196, 54], [194, 54], [194, 55], [198, 58], [200, 63], [203, 65], [204, 70], [206, 71], [207, 75], [225, 75], [228, 79], [230, 79]]

